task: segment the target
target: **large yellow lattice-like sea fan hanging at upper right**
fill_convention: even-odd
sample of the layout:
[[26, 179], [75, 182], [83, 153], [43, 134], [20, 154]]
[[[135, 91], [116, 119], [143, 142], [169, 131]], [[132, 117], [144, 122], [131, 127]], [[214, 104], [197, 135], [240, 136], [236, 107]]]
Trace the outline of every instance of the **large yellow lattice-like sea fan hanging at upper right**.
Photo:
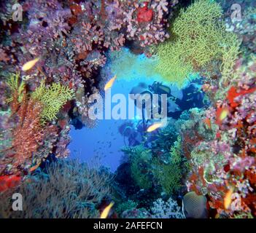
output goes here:
[[154, 48], [158, 73], [182, 86], [191, 73], [212, 60], [221, 60], [223, 44], [229, 47], [230, 42], [221, 16], [220, 5], [209, 0], [198, 0], [182, 9], [171, 25], [171, 38]]

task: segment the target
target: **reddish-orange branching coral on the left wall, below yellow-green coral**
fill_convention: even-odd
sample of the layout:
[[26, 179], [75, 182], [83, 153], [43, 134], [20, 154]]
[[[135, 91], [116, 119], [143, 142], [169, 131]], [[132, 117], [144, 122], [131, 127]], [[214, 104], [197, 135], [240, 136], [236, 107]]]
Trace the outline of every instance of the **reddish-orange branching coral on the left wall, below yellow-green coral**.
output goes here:
[[53, 125], [41, 127], [41, 112], [42, 105], [34, 100], [23, 99], [20, 103], [18, 125], [12, 131], [12, 146], [1, 151], [4, 154], [0, 162], [1, 173], [20, 173], [28, 170], [33, 162], [40, 162], [41, 158], [36, 156], [37, 150], [44, 144], [47, 135], [50, 138], [56, 136]]

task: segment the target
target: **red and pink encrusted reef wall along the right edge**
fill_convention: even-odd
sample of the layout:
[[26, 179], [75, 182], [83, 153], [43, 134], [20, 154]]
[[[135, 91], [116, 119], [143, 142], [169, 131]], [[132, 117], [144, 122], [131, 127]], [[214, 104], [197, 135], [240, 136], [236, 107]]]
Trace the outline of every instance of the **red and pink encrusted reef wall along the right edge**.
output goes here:
[[[255, 58], [236, 63], [230, 83], [226, 95], [206, 111], [217, 130], [214, 138], [204, 138], [191, 151], [187, 187], [208, 194], [220, 217], [255, 216]], [[231, 203], [225, 208], [229, 190]]]

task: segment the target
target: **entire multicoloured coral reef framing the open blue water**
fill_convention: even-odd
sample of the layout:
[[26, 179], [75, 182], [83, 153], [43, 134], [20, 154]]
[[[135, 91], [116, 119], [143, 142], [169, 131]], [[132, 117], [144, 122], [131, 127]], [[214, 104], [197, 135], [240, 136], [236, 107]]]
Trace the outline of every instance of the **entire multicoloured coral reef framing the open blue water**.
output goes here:
[[[239, 18], [230, 0], [23, 0], [21, 21], [13, 4], [0, 3], [1, 217], [98, 218], [115, 202], [110, 218], [185, 218], [189, 191], [210, 218], [256, 217], [254, 1], [236, 2]], [[115, 177], [66, 159], [71, 125], [97, 126], [90, 95], [113, 76], [160, 80], [148, 91], [179, 107], [153, 132], [152, 119], [117, 128]]]

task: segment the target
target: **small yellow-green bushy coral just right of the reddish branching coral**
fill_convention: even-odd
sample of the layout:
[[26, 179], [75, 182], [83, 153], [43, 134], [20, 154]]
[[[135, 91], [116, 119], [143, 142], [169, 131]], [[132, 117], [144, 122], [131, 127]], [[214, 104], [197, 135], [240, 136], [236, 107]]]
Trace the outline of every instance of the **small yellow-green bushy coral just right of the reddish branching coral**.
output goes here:
[[43, 104], [41, 114], [43, 124], [47, 121], [57, 119], [56, 114], [58, 114], [63, 104], [73, 97], [73, 90], [60, 83], [53, 83], [50, 87], [45, 87], [45, 83], [41, 82], [40, 86], [32, 94], [32, 98], [39, 100]]

